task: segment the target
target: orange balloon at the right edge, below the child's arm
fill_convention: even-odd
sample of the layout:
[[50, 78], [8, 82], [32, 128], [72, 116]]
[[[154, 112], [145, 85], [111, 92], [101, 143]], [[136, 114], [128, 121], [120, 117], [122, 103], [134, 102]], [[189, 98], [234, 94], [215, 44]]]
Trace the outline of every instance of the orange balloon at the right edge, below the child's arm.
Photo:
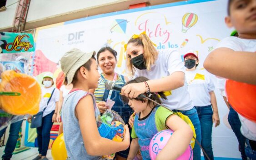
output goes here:
[[226, 94], [228, 102], [236, 112], [256, 122], [256, 85], [228, 79]]

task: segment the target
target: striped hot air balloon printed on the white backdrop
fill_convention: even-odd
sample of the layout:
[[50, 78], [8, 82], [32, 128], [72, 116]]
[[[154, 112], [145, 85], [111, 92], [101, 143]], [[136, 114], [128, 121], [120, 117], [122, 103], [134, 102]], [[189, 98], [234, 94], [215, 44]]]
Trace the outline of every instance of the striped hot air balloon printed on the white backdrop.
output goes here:
[[182, 17], [182, 30], [181, 32], [186, 33], [188, 29], [193, 27], [198, 20], [198, 16], [194, 13], [186, 13]]

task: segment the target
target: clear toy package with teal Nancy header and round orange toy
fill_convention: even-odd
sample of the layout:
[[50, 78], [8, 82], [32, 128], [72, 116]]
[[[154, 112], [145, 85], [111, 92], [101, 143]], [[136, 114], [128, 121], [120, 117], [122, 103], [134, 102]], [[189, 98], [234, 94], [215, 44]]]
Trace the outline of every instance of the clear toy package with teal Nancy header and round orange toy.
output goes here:
[[32, 34], [0, 32], [0, 130], [36, 114], [40, 85], [32, 75]]

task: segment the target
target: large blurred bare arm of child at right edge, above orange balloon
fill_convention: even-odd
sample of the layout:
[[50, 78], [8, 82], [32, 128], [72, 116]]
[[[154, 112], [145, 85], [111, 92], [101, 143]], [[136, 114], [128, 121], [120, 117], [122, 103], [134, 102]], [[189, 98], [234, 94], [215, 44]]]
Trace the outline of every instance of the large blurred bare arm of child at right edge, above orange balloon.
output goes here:
[[256, 85], [256, 53], [217, 48], [204, 62], [204, 68], [217, 76]]

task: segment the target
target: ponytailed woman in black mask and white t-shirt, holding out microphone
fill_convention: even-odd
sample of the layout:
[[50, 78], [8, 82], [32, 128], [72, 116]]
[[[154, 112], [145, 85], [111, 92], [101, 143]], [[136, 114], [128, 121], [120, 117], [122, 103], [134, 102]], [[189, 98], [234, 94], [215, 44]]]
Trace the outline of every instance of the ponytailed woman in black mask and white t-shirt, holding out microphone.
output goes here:
[[[133, 78], [143, 76], [151, 80], [128, 84], [122, 88], [121, 93], [136, 98], [145, 92], [165, 91], [167, 99], [161, 99], [163, 105], [188, 116], [195, 127], [196, 139], [201, 143], [200, 121], [187, 90], [181, 55], [176, 50], [158, 52], [154, 45], [146, 32], [134, 34], [125, 45], [127, 70]], [[129, 123], [133, 123], [132, 117]], [[200, 152], [200, 146], [195, 144], [193, 160], [201, 160]]]

